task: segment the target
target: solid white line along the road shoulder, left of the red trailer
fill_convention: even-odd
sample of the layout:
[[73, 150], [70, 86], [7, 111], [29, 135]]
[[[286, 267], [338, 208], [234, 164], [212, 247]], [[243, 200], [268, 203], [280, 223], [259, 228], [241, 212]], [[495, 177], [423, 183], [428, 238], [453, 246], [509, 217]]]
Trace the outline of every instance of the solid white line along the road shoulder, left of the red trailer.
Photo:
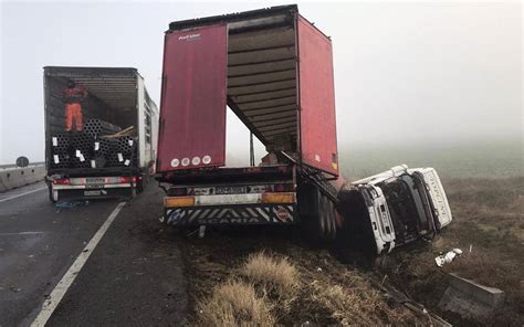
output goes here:
[[76, 278], [85, 262], [90, 257], [91, 253], [93, 253], [96, 245], [104, 236], [105, 232], [111, 226], [115, 218], [118, 215], [118, 212], [120, 212], [122, 208], [124, 208], [125, 204], [126, 202], [120, 202], [118, 203], [118, 205], [116, 205], [115, 210], [113, 210], [113, 212], [109, 214], [104, 224], [99, 228], [93, 239], [91, 239], [90, 243], [87, 243], [84, 250], [80, 253], [80, 255], [76, 257], [69, 271], [64, 274], [62, 279], [60, 279], [59, 284], [56, 284], [53, 292], [51, 292], [49, 298], [45, 299], [44, 304], [42, 305], [42, 309], [31, 324], [31, 327], [45, 326], [54, 309], [57, 307], [59, 303], [62, 300], [71, 284], [73, 284], [74, 279]]

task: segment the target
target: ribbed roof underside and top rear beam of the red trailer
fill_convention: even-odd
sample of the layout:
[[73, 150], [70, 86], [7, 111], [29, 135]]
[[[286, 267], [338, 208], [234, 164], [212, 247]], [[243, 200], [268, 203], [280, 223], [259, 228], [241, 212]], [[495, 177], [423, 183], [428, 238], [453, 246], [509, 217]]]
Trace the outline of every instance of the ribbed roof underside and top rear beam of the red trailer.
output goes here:
[[297, 137], [297, 6], [177, 21], [166, 33], [228, 25], [228, 106], [265, 145]]

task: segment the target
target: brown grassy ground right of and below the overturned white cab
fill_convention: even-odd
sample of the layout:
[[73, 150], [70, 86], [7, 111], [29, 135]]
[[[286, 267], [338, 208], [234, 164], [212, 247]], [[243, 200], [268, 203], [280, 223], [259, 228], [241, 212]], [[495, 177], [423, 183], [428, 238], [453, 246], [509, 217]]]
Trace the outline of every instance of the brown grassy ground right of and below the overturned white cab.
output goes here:
[[[506, 293], [506, 304], [482, 325], [522, 326], [524, 178], [447, 180], [444, 188], [453, 222], [432, 243], [399, 249], [385, 257], [379, 268], [429, 307], [437, 306], [446, 289], [448, 279], [443, 273], [458, 273], [499, 287]], [[434, 256], [453, 247], [462, 249], [464, 254], [442, 268], [437, 267]]]

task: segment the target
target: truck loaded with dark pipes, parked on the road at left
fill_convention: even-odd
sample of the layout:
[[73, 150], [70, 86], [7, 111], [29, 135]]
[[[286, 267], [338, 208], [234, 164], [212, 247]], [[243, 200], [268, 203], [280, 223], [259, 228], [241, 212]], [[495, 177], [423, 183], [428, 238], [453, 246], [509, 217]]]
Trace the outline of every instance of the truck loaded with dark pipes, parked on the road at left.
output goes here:
[[[158, 109], [133, 67], [45, 66], [45, 166], [50, 201], [134, 197], [154, 175]], [[65, 130], [63, 91], [86, 92], [83, 128]], [[77, 124], [75, 122], [75, 124]]]

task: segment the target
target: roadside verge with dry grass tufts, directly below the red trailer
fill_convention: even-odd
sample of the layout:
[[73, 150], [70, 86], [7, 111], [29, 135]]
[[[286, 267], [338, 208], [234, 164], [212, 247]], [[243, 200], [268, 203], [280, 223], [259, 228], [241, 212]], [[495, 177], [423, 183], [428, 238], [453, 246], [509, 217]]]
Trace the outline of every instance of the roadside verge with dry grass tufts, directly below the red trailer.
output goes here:
[[427, 323], [426, 317], [389, 300], [358, 268], [340, 263], [325, 250], [296, 245], [297, 241], [290, 239], [289, 234], [272, 239], [260, 232], [222, 233], [208, 235], [206, 242], [198, 240], [198, 246], [186, 244], [196, 303], [189, 325], [249, 326], [258, 325], [261, 316], [260, 326]]

